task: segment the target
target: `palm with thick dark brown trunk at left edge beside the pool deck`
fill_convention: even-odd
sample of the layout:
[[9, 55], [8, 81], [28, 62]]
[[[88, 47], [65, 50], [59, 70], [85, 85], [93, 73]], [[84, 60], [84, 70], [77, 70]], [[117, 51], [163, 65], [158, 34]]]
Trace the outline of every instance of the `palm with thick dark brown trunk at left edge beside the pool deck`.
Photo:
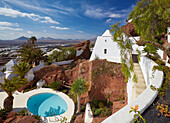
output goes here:
[[3, 89], [8, 97], [4, 100], [4, 108], [8, 111], [12, 110], [14, 97], [12, 94], [20, 88], [23, 84], [27, 82], [26, 79], [21, 79], [20, 77], [13, 77], [11, 80], [5, 79], [4, 84], [0, 83], [0, 88]]

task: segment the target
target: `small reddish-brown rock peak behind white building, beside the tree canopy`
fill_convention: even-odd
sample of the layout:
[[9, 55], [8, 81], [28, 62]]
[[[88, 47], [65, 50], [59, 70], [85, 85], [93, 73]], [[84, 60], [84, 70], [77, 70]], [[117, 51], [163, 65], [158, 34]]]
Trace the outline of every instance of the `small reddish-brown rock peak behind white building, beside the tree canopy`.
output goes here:
[[138, 36], [138, 34], [135, 32], [135, 26], [132, 24], [132, 22], [128, 22], [126, 25], [122, 26], [122, 28], [131, 36]]

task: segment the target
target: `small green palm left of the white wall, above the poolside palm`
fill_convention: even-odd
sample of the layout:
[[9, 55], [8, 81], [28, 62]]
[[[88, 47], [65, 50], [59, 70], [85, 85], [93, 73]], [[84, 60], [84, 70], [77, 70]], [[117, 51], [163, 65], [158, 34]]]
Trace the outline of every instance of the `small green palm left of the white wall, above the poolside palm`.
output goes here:
[[30, 65], [26, 62], [20, 62], [19, 64], [14, 65], [13, 73], [19, 75], [21, 79], [24, 78], [25, 74], [29, 71]]

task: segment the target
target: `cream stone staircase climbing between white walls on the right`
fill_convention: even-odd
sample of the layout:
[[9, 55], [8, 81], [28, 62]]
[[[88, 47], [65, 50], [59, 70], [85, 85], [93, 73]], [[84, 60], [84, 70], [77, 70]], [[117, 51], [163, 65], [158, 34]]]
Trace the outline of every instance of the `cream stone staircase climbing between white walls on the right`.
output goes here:
[[133, 83], [134, 98], [137, 98], [146, 89], [145, 80], [144, 80], [143, 73], [142, 73], [139, 63], [134, 63], [134, 73], [138, 77], [138, 82]]

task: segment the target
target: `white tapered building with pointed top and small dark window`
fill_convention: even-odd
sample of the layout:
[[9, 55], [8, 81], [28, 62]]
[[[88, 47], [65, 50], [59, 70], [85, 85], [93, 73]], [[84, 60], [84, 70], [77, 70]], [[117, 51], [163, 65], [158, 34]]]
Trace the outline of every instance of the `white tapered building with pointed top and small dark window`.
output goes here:
[[110, 62], [121, 63], [120, 49], [117, 43], [113, 41], [109, 30], [97, 37], [90, 61], [94, 59], [107, 59]]

